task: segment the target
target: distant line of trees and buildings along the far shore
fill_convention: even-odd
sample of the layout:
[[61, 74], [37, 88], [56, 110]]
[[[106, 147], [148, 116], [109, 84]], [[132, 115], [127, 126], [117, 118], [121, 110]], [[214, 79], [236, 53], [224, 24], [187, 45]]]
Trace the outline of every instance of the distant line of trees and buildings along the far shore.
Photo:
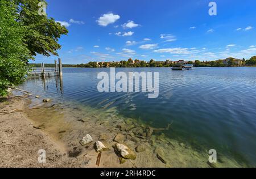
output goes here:
[[[106, 68], [106, 67], [172, 67], [179, 62], [183, 64], [192, 64], [196, 67], [232, 67], [232, 66], [256, 66], [256, 56], [250, 59], [236, 59], [229, 57], [226, 59], [218, 59], [216, 61], [140, 61], [139, 59], [128, 59], [120, 62], [89, 62], [77, 65], [63, 65], [63, 67], [83, 67], [83, 68]], [[31, 63], [33, 67], [41, 67], [41, 64]], [[54, 67], [54, 64], [44, 64], [45, 67]]]

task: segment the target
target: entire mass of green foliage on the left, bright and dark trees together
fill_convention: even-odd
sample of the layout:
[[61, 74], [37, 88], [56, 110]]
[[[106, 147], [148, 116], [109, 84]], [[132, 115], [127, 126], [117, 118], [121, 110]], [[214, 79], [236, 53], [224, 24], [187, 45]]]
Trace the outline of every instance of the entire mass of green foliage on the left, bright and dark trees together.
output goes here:
[[68, 33], [54, 19], [39, 15], [39, 2], [45, 1], [0, 1], [0, 96], [23, 82], [33, 56], [57, 55], [58, 40]]

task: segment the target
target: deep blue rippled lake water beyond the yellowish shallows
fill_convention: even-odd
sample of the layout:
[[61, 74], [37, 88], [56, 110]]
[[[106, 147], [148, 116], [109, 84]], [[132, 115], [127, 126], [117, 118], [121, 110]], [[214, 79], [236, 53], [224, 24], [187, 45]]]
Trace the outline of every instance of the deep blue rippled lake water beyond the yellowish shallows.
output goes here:
[[[147, 93], [97, 90], [97, 74], [110, 69], [63, 69], [63, 79], [30, 78], [25, 90], [54, 101], [69, 101], [96, 109], [117, 107], [122, 116], [152, 127], [166, 127], [167, 137], [199, 150], [217, 152], [249, 167], [256, 166], [256, 68], [199, 67], [189, 71], [170, 68], [115, 69], [158, 71], [159, 97]], [[60, 83], [61, 82], [61, 83]]]

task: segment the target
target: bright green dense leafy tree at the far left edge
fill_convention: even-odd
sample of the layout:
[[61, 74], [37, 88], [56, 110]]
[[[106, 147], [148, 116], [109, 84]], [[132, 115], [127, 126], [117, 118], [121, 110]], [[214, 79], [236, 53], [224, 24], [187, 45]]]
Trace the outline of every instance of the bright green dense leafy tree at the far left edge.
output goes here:
[[15, 8], [13, 1], [0, 1], [0, 96], [24, 80], [32, 58], [23, 41], [26, 29], [16, 22]]

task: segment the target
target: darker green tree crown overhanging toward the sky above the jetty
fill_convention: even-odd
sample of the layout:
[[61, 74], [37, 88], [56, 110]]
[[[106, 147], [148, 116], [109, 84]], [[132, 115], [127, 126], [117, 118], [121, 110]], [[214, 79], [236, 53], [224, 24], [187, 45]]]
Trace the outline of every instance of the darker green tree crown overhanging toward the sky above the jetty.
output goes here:
[[[68, 30], [53, 18], [39, 15], [39, 2], [42, 0], [14, 0], [18, 17], [16, 19], [25, 29], [24, 43], [32, 56], [42, 54], [57, 56], [57, 50], [61, 48], [58, 40], [61, 35], [67, 35]], [[47, 3], [46, 3], [47, 5]]]

